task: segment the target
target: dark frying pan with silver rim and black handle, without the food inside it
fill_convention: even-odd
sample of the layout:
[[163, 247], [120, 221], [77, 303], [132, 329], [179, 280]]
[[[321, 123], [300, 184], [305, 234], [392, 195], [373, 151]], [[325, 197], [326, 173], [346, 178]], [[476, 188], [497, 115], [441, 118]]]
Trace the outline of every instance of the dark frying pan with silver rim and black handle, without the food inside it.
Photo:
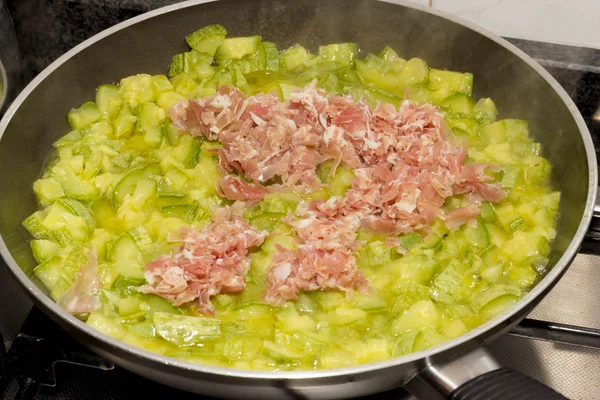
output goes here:
[[[34, 277], [30, 237], [21, 222], [36, 209], [31, 190], [51, 143], [68, 131], [67, 112], [94, 89], [136, 74], [164, 73], [184, 36], [207, 24], [231, 36], [260, 34], [280, 48], [357, 42], [364, 52], [392, 46], [436, 68], [470, 71], [476, 97], [494, 99], [501, 117], [529, 121], [562, 192], [557, 237], [545, 277], [518, 303], [478, 328], [427, 350], [334, 370], [258, 372], [160, 356], [112, 339], [69, 315]], [[523, 52], [469, 23], [401, 1], [195, 0], [108, 29], [55, 61], [18, 96], [0, 122], [0, 253], [35, 304], [93, 351], [147, 378], [231, 399], [340, 399], [406, 385], [422, 399], [562, 398], [502, 369], [485, 344], [515, 326], [556, 284], [590, 223], [596, 156], [583, 118], [560, 85]], [[538, 396], [538, 397], [536, 397]]]

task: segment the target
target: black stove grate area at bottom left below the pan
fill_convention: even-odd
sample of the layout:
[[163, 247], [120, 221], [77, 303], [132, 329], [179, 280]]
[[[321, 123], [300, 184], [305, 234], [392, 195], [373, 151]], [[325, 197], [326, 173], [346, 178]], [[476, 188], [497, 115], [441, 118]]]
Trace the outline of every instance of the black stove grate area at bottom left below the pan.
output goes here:
[[151, 396], [210, 399], [115, 367], [69, 337], [35, 307], [4, 355], [3, 367], [3, 400], [120, 400]]

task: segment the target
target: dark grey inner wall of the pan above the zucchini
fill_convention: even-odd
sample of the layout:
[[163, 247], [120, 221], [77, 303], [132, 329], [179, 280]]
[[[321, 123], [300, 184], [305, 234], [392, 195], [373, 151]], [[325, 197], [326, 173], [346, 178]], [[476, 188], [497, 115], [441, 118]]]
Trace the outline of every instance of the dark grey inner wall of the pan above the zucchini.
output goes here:
[[[589, 170], [585, 144], [571, 111], [534, 68], [493, 40], [436, 15], [369, 0], [223, 0], [175, 10], [119, 30], [74, 54], [31, 89], [0, 139], [0, 235], [8, 250], [33, 277], [36, 265], [21, 222], [36, 210], [32, 183], [43, 169], [51, 143], [70, 128], [68, 111], [93, 101], [104, 83], [136, 74], [164, 73], [173, 54], [187, 50], [183, 38], [219, 23], [230, 36], [260, 34], [279, 48], [300, 43], [354, 41], [361, 52], [393, 47], [405, 58], [430, 66], [469, 71], [476, 97], [491, 97], [501, 118], [529, 121], [553, 167], [562, 192], [561, 219], [553, 246], [554, 265], [570, 245], [584, 216]], [[3, 126], [4, 126], [3, 125]]]

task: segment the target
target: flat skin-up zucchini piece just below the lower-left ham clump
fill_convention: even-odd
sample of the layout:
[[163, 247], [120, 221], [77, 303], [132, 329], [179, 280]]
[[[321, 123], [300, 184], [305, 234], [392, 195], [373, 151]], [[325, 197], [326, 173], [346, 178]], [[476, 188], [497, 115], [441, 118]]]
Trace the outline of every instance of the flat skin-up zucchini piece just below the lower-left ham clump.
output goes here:
[[221, 336], [221, 321], [215, 318], [155, 312], [152, 322], [156, 333], [176, 346], [198, 345]]

